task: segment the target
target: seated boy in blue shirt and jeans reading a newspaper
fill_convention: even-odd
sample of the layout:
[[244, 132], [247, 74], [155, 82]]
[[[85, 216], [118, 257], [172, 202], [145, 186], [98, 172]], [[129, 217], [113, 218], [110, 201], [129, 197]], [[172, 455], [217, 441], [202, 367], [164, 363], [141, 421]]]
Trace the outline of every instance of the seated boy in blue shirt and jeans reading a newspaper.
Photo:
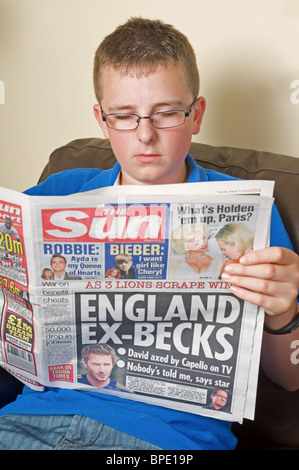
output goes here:
[[[94, 84], [95, 117], [118, 163], [112, 170], [59, 173], [28, 194], [229, 179], [198, 167], [187, 155], [192, 134], [200, 130], [205, 100], [198, 98], [194, 52], [173, 27], [131, 19], [117, 28], [96, 52]], [[299, 263], [275, 210], [271, 237], [272, 245], [283, 248], [247, 254], [227, 267], [223, 277], [237, 296], [266, 308], [271, 333], [264, 338], [265, 370], [272, 380], [294, 390], [298, 374], [289, 348], [299, 329], [288, 335], [272, 333], [290, 322], [292, 327], [298, 324], [293, 320], [298, 314]], [[230, 423], [93, 392], [26, 389], [1, 411], [0, 448], [6, 449], [191, 450], [233, 449], [236, 444]]]

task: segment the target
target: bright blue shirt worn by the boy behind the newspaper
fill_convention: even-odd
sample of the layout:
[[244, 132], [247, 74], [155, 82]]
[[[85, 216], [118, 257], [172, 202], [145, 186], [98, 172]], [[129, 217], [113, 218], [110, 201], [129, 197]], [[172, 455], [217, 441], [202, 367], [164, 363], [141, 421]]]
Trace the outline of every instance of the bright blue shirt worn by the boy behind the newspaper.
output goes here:
[[[234, 179], [198, 166], [188, 155], [188, 183]], [[39, 196], [59, 196], [112, 186], [119, 174], [118, 163], [110, 170], [74, 169], [50, 176], [25, 193]], [[292, 249], [276, 207], [271, 222], [271, 245]], [[148, 441], [165, 450], [224, 450], [234, 449], [236, 438], [231, 423], [139, 403], [114, 395], [94, 391], [46, 388], [37, 392], [28, 387], [17, 400], [0, 410], [4, 414], [87, 416], [112, 428]]]

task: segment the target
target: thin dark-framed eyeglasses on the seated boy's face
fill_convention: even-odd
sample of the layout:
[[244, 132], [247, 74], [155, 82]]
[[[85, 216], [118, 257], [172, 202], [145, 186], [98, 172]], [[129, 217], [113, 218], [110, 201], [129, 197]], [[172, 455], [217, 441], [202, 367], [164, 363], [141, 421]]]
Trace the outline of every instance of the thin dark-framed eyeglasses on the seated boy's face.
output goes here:
[[159, 111], [151, 114], [150, 116], [138, 116], [138, 114], [129, 113], [104, 114], [102, 107], [101, 113], [102, 119], [106, 122], [107, 126], [116, 131], [133, 131], [137, 129], [141, 119], [150, 119], [152, 125], [156, 129], [171, 129], [172, 127], [182, 126], [185, 123], [186, 118], [190, 116], [196, 101], [197, 98], [195, 98], [188, 111]]

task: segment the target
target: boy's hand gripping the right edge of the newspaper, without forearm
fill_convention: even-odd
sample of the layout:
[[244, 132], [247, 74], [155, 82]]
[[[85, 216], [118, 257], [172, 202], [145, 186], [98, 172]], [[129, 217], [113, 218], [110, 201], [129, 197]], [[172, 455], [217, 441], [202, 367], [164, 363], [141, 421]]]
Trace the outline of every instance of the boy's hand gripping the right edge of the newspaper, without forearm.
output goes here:
[[234, 294], [263, 307], [270, 328], [280, 329], [297, 314], [299, 256], [286, 248], [251, 251], [228, 264], [222, 279]]

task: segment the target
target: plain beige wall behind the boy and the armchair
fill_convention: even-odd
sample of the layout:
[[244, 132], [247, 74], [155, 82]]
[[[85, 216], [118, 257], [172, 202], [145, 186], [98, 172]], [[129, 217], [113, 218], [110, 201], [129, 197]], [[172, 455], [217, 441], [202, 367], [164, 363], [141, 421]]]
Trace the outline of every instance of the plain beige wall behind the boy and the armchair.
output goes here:
[[194, 140], [299, 156], [298, 0], [0, 0], [0, 186], [22, 191], [54, 148], [102, 136], [93, 55], [134, 15], [194, 46], [208, 105]]

